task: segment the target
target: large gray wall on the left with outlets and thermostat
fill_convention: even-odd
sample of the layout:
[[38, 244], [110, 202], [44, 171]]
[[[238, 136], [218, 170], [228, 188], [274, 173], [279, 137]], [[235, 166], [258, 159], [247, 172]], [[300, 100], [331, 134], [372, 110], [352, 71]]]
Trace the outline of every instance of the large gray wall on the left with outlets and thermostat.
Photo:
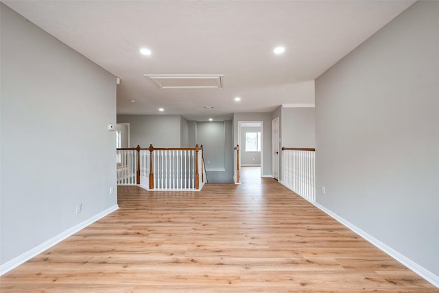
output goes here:
[[0, 5], [3, 264], [117, 204], [116, 83]]

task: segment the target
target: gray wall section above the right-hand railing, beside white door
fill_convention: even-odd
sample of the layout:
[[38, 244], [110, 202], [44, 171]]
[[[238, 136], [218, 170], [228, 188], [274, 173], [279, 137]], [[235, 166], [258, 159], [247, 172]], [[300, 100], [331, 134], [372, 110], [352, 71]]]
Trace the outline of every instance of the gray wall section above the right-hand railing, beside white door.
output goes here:
[[315, 148], [314, 108], [282, 107], [282, 145], [285, 148]]

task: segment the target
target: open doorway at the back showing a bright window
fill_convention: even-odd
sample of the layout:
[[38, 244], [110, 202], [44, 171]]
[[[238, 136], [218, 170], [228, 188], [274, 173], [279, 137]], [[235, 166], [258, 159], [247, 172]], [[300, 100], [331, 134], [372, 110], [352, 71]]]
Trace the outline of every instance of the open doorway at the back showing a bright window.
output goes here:
[[263, 167], [262, 121], [238, 121], [239, 170], [242, 183], [261, 180]]

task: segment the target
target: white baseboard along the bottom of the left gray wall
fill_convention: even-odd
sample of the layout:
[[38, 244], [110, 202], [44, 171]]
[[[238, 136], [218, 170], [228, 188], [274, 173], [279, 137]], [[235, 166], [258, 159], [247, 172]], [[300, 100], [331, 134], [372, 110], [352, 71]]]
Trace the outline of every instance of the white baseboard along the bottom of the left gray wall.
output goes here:
[[25, 263], [29, 259], [32, 259], [32, 257], [36, 257], [40, 253], [43, 253], [45, 250], [51, 248], [55, 244], [58, 244], [59, 242], [62, 242], [62, 240], [66, 239], [67, 237], [75, 234], [76, 232], [82, 230], [86, 226], [93, 224], [97, 220], [104, 218], [109, 213], [112, 213], [113, 211], [116, 211], [119, 209], [119, 206], [117, 204], [113, 205], [112, 207], [109, 207], [105, 211], [102, 211], [98, 213], [97, 215], [93, 215], [93, 217], [88, 218], [87, 220], [84, 220], [83, 222], [80, 222], [79, 224], [68, 228], [66, 231], [51, 237], [51, 239], [47, 240], [46, 242], [43, 242], [42, 244], [32, 248], [31, 250], [27, 250], [22, 255], [19, 255], [18, 257], [15, 257], [14, 259], [11, 259], [10, 261], [3, 263], [0, 266], [0, 276], [5, 274], [6, 272], [9, 272], [10, 270], [16, 268], [17, 266], [20, 266], [21, 263]]

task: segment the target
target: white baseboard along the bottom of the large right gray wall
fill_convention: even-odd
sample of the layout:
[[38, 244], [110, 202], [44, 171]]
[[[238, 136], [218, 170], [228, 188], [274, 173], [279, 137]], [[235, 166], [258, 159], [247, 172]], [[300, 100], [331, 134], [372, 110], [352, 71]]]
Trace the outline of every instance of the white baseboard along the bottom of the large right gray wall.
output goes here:
[[329, 215], [333, 219], [337, 220], [337, 222], [340, 222], [341, 224], [343, 224], [347, 228], [351, 229], [351, 231], [357, 233], [358, 235], [360, 235], [361, 237], [366, 239], [368, 242], [370, 242], [371, 244], [373, 244], [374, 246], [376, 246], [377, 248], [382, 250], [384, 253], [387, 253], [388, 255], [390, 255], [390, 257], [393, 257], [394, 259], [396, 259], [396, 261], [399, 261], [407, 268], [410, 268], [410, 270], [412, 270], [413, 272], [418, 274], [420, 277], [423, 277], [425, 280], [429, 281], [429, 283], [431, 283], [432, 285], [435, 285], [436, 287], [439, 288], [439, 277], [436, 274], [434, 274], [433, 272], [430, 272], [426, 268], [423, 268], [422, 266], [418, 265], [418, 263], [412, 261], [412, 259], [409, 259], [409, 258], [405, 257], [404, 255], [401, 255], [401, 253], [394, 250], [393, 248], [391, 248], [387, 244], [384, 244], [383, 242], [379, 241], [378, 239], [376, 239], [372, 235], [361, 230], [361, 228], [358, 228], [357, 226], [355, 226], [351, 222], [344, 220], [344, 218], [340, 217], [340, 215], [333, 213], [332, 211], [323, 207], [322, 205], [318, 204], [317, 202], [311, 202], [311, 204], [316, 206], [318, 209], [322, 210], [324, 213], [327, 213], [327, 215]]

